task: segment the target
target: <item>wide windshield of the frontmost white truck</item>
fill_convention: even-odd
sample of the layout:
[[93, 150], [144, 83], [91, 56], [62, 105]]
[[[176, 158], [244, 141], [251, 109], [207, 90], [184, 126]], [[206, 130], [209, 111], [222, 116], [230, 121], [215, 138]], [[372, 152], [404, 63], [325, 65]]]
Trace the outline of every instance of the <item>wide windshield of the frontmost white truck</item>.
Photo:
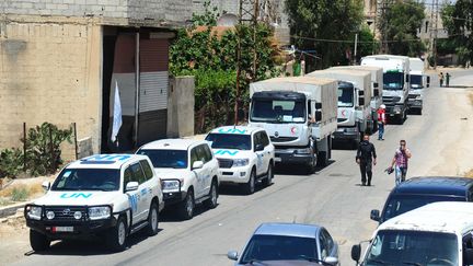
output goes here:
[[250, 119], [266, 123], [304, 123], [308, 112], [303, 101], [253, 100]]

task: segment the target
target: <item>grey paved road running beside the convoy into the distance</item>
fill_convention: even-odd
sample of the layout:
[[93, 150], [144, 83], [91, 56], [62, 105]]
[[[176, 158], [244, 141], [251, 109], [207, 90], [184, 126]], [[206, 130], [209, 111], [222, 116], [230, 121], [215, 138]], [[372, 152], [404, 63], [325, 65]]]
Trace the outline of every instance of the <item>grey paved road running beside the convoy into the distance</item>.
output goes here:
[[[452, 84], [472, 81], [472, 72], [458, 72]], [[376, 228], [370, 210], [381, 208], [393, 187], [393, 175], [383, 170], [400, 139], [406, 139], [413, 152], [409, 175], [455, 175], [469, 170], [469, 163], [473, 166], [468, 150], [473, 138], [469, 93], [464, 88], [430, 88], [423, 116], [409, 116], [403, 126], [389, 125], [385, 141], [373, 138], [379, 163], [372, 187], [359, 186], [355, 151], [336, 150], [331, 165], [311, 176], [282, 169], [273, 186], [251, 196], [227, 189], [216, 209], [201, 210], [191, 221], [166, 215], [157, 236], [132, 236], [123, 253], [107, 254], [95, 243], [57, 243], [50, 252], [28, 254], [18, 265], [232, 265], [227, 251], [240, 250], [253, 230], [268, 221], [326, 227], [339, 243], [342, 263], [350, 265], [351, 244], [369, 239]]]

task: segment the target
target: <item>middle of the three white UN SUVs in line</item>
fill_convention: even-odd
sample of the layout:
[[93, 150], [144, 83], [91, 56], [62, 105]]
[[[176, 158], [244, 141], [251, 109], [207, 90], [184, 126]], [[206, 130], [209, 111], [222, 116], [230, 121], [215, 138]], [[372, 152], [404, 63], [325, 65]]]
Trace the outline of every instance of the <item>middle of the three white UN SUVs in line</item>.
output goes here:
[[142, 146], [137, 154], [151, 159], [166, 208], [176, 206], [183, 219], [193, 218], [196, 204], [217, 207], [218, 161], [206, 141], [162, 139]]

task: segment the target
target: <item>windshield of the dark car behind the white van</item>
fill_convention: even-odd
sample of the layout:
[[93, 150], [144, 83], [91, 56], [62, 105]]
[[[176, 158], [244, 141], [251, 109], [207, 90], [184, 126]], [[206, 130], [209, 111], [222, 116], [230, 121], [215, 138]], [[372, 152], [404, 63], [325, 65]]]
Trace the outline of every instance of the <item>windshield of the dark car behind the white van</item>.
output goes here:
[[382, 221], [389, 220], [420, 206], [437, 201], [465, 201], [465, 198], [432, 195], [397, 195], [389, 199], [384, 209]]

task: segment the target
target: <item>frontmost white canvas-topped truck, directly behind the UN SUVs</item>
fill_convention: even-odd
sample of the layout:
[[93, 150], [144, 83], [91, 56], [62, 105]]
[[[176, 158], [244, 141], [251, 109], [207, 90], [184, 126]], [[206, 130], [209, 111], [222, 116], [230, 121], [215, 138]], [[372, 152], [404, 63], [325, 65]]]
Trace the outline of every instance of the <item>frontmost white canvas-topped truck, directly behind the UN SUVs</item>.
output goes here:
[[276, 163], [327, 165], [337, 127], [337, 81], [274, 78], [250, 84], [250, 123], [269, 134]]

